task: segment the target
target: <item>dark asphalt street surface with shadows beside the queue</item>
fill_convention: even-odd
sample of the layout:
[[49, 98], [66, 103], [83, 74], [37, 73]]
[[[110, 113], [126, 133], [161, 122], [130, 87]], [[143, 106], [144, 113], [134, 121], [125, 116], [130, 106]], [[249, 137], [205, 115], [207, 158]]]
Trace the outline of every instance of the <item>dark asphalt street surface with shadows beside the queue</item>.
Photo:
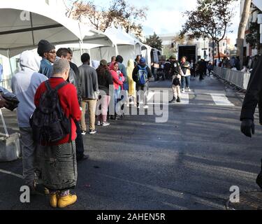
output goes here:
[[[150, 108], [170, 80], [150, 83]], [[170, 104], [168, 121], [159, 116], [126, 116], [98, 133], [85, 135], [89, 160], [78, 164], [78, 202], [67, 209], [225, 209], [231, 186], [259, 190], [262, 128], [240, 132], [243, 94], [221, 80], [191, 80], [191, 93]], [[9, 132], [15, 112], [3, 111]], [[1, 129], [3, 132], [3, 129]], [[51, 209], [46, 195], [20, 202], [22, 160], [0, 163], [0, 209]]]

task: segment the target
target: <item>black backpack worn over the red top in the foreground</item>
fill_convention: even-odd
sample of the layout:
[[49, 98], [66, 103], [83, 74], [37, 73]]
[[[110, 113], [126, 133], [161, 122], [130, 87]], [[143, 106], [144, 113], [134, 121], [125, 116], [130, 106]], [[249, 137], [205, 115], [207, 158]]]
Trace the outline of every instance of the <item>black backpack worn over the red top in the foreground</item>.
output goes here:
[[71, 141], [71, 120], [64, 115], [57, 94], [58, 90], [67, 84], [65, 81], [52, 89], [49, 80], [45, 81], [47, 90], [42, 94], [39, 105], [30, 118], [36, 143], [52, 144], [64, 139], [67, 134], [70, 134], [69, 142]]

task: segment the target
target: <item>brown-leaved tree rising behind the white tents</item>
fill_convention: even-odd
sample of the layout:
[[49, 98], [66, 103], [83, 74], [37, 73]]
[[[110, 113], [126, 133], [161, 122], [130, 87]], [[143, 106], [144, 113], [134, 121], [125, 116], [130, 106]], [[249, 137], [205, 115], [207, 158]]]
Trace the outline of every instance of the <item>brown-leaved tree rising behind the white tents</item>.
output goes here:
[[94, 1], [71, 2], [67, 15], [81, 22], [88, 20], [92, 27], [105, 31], [108, 27], [122, 27], [126, 33], [133, 33], [138, 38], [143, 36], [141, 22], [146, 19], [147, 7], [138, 8], [126, 0], [113, 0], [108, 8], [96, 6]]

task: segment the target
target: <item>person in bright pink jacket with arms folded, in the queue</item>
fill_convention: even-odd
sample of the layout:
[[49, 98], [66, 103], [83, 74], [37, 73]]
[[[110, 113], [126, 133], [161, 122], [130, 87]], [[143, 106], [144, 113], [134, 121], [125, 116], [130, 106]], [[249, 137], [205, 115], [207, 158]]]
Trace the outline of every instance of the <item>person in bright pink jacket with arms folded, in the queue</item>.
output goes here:
[[[117, 106], [117, 102], [120, 97], [120, 92], [123, 90], [123, 83], [124, 83], [124, 75], [119, 71], [119, 66], [117, 62], [114, 62], [110, 64], [110, 73], [112, 75], [112, 82], [114, 84], [114, 89], [115, 89], [115, 107]], [[115, 118], [111, 119], [116, 120], [117, 119], [117, 114], [115, 113]]]

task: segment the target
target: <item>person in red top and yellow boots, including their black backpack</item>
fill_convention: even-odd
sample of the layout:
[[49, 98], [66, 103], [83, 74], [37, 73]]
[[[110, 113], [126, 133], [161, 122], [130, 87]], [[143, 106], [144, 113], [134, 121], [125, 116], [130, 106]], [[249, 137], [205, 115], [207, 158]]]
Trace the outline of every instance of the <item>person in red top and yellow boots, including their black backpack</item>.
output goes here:
[[36, 90], [36, 111], [30, 119], [34, 140], [47, 146], [42, 180], [54, 208], [67, 207], [77, 200], [69, 190], [75, 188], [78, 176], [75, 121], [80, 120], [81, 111], [75, 86], [66, 82], [69, 71], [68, 60], [54, 62], [52, 77]]

